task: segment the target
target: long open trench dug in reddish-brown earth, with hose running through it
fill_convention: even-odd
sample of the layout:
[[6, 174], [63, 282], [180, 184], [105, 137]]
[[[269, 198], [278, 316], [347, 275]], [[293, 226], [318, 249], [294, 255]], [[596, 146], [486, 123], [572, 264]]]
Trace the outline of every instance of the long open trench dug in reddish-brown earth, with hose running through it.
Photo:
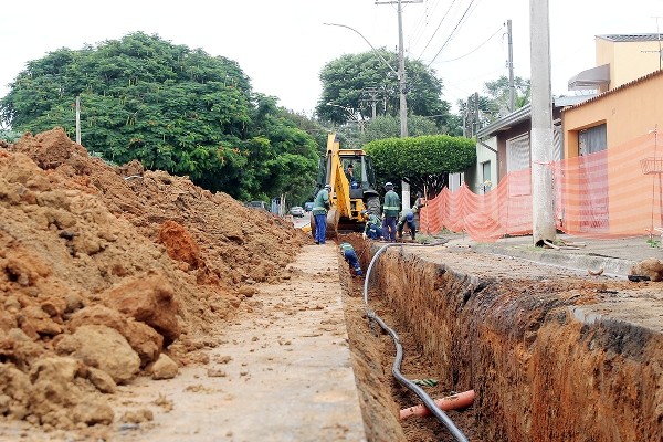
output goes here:
[[[380, 245], [341, 240], [365, 270]], [[662, 440], [662, 330], [614, 308], [651, 299], [571, 270], [422, 249], [376, 261], [368, 304], [400, 337], [403, 376], [434, 380], [433, 399], [475, 390], [446, 411], [470, 441]], [[432, 417], [398, 419], [422, 402], [391, 375], [393, 341], [370, 326], [364, 280], [339, 264], [367, 439], [455, 441]]]

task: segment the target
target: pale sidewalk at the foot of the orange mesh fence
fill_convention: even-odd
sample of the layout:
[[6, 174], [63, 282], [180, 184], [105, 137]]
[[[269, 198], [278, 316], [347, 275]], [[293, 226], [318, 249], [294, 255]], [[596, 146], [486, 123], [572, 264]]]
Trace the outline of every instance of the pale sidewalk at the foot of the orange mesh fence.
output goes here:
[[[558, 234], [557, 240], [569, 246], [561, 249], [537, 248], [532, 235], [503, 238], [495, 243], [472, 241], [462, 233], [444, 234], [448, 246], [470, 246], [480, 253], [493, 253], [523, 257], [544, 264], [577, 269], [580, 271], [600, 271], [604, 275], [627, 277], [631, 266], [648, 257], [663, 260], [663, 249], [652, 248], [649, 235], [622, 239], [591, 239]], [[661, 240], [654, 236], [654, 240]], [[663, 245], [663, 244], [662, 244]]]

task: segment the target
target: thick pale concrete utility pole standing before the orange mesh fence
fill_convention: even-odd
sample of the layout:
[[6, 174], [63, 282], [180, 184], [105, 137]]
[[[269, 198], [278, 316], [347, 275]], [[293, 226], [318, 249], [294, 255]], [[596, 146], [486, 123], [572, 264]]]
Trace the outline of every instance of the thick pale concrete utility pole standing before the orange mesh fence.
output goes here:
[[550, 23], [548, 0], [529, 0], [532, 65], [532, 238], [534, 245], [555, 241], [552, 189], [552, 87], [550, 85]]

